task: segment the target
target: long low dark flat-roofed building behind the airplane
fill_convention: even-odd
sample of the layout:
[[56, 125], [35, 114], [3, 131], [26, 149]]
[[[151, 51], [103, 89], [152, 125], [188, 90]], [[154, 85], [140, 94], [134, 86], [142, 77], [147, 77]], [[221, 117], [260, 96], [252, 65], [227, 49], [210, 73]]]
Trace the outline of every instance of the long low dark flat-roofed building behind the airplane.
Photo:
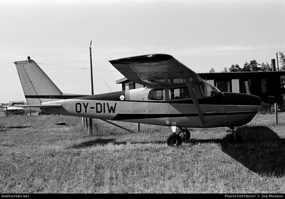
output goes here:
[[[267, 104], [285, 104], [285, 71], [198, 73], [222, 92], [256, 95]], [[144, 87], [123, 77], [116, 80], [122, 90]]]

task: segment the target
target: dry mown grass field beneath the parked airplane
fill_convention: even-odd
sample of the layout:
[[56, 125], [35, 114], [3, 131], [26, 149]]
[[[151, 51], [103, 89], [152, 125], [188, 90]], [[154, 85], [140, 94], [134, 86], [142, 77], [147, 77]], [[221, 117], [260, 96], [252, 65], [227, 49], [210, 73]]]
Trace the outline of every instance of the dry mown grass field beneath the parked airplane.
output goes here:
[[2, 114], [0, 192], [284, 193], [284, 125], [258, 117], [237, 128], [241, 144], [229, 143], [227, 128], [192, 128], [172, 148], [167, 127], [130, 133], [93, 120], [89, 136], [76, 117]]

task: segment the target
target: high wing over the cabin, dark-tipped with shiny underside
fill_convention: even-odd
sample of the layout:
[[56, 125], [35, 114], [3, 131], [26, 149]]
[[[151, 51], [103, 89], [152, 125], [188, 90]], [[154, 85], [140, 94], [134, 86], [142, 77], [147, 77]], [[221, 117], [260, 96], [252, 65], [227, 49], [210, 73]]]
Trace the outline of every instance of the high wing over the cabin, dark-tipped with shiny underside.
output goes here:
[[109, 61], [128, 80], [151, 85], [182, 85], [189, 78], [199, 83], [202, 78], [171, 55], [151, 54]]

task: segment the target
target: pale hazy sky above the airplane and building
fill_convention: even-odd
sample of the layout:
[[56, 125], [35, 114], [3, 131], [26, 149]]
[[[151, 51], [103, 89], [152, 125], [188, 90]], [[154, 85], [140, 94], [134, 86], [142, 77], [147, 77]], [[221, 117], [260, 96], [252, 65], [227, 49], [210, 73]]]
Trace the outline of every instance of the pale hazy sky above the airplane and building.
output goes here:
[[93, 71], [94, 94], [110, 92], [107, 85], [121, 90], [116, 80], [123, 75], [109, 60], [170, 54], [207, 73], [251, 60], [271, 63], [285, 51], [284, 0], [0, 3], [0, 103], [25, 100], [13, 62], [27, 56], [63, 93], [91, 94], [91, 39], [93, 69], [107, 70]]

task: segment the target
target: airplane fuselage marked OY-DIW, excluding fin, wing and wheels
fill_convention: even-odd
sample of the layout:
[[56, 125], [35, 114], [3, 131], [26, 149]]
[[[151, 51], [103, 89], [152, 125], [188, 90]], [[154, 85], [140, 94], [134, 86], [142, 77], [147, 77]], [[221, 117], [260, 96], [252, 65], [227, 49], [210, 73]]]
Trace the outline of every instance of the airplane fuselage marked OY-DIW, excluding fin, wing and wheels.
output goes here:
[[[171, 89], [173, 86], [144, 87], [44, 102], [62, 107], [43, 109], [43, 112], [161, 126], [211, 128], [247, 124], [260, 107], [257, 96], [219, 92], [198, 99], [205, 119], [205, 124], [201, 124], [193, 100], [189, 97], [174, 99], [170, 96]], [[154, 91], [161, 91], [162, 97], [153, 97]]]

